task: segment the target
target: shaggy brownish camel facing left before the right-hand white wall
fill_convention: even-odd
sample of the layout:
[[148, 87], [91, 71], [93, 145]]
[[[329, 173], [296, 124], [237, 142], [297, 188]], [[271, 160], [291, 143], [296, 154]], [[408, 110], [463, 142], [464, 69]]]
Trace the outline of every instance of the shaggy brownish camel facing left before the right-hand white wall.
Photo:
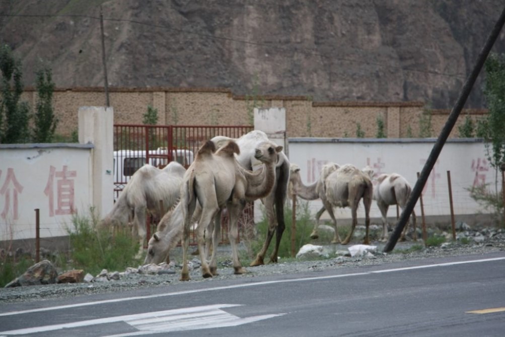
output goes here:
[[[357, 210], [359, 201], [363, 198], [365, 205], [365, 223], [366, 236], [365, 244], [369, 243], [368, 233], [370, 226], [370, 206], [372, 203], [372, 182], [368, 175], [359, 170], [353, 165], [346, 164], [339, 166], [335, 163], [323, 165], [321, 175], [315, 183], [306, 186], [301, 182], [299, 175], [299, 167], [291, 166], [290, 182], [293, 186], [293, 191], [306, 200], [321, 199], [323, 207], [316, 213], [316, 223], [311, 233], [312, 238], [318, 238], [317, 233], [319, 226], [319, 218], [326, 210], [330, 214], [333, 221], [335, 234], [331, 243], [341, 243], [346, 245], [349, 243], [352, 233], [358, 223]], [[349, 207], [352, 213], [352, 226], [347, 237], [341, 241], [337, 231], [337, 221], [333, 213], [333, 207]]]

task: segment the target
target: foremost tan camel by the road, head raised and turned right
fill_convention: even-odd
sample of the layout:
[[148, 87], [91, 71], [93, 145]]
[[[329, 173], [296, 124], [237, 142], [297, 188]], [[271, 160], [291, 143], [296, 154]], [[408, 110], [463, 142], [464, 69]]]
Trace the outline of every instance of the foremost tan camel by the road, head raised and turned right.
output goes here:
[[184, 218], [183, 230], [183, 266], [181, 280], [189, 280], [187, 266], [189, 229], [191, 215], [196, 204], [201, 206], [201, 215], [196, 227], [196, 239], [201, 260], [201, 272], [204, 277], [217, 275], [216, 250], [212, 251], [210, 266], [207, 263], [204, 247], [204, 232], [211, 222], [215, 221], [212, 245], [217, 247], [220, 221], [216, 219], [219, 210], [226, 207], [230, 219], [228, 237], [232, 249], [232, 261], [235, 274], [246, 272], [238, 257], [237, 222], [245, 203], [263, 198], [270, 194], [275, 182], [275, 164], [282, 147], [271, 141], [261, 142], [255, 149], [255, 158], [264, 163], [264, 168], [252, 173], [238, 165], [234, 154], [240, 150], [234, 141], [228, 141], [214, 153], [215, 144], [208, 141], [200, 148], [194, 162], [184, 176], [181, 188], [182, 213]]

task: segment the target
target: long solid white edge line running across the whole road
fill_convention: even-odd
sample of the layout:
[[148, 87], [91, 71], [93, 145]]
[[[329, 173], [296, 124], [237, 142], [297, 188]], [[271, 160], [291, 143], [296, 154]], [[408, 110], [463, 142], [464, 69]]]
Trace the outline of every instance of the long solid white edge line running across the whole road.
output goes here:
[[[318, 280], [318, 279], [331, 279], [331, 278], [341, 278], [341, 277], [349, 277], [349, 276], [371, 275], [371, 274], [377, 274], [377, 273], [391, 273], [391, 272], [396, 272], [396, 271], [415, 270], [415, 269], [434, 268], [434, 267], [448, 267], [448, 266], [460, 265], [460, 264], [490, 262], [490, 261], [499, 261], [499, 260], [505, 260], [505, 257], [480, 259], [480, 260], [467, 260], [467, 261], [460, 261], [460, 262], [436, 263], [436, 264], [428, 264], [428, 265], [421, 265], [421, 266], [414, 266], [414, 267], [403, 267], [403, 268], [367, 271], [367, 272], [361, 272], [361, 273], [349, 273], [349, 274], [340, 274], [340, 275], [316, 276], [316, 277], [294, 278], [294, 279], [284, 279], [284, 280], [275, 280], [275, 281], [241, 283], [241, 284], [234, 284], [234, 285], [227, 285], [227, 286], [216, 286], [216, 287], [201, 288], [201, 289], [195, 289], [195, 290], [185, 290], [185, 291], [173, 292], [173, 293], [167, 293], [167, 294], [136, 296], [136, 297], [119, 298], [119, 299], [114, 299], [114, 300], [103, 300], [103, 301], [95, 301], [95, 302], [61, 305], [61, 306], [47, 307], [47, 308], [10, 311], [10, 312], [0, 313], [0, 317], [1, 316], [11, 316], [11, 315], [21, 315], [21, 314], [27, 314], [27, 313], [32, 313], [32, 312], [43, 312], [43, 311], [75, 308], [75, 307], [93, 306], [93, 305], [107, 304], [107, 303], [118, 303], [118, 302], [145, 300], [145, 299], [160, 298], [160, 297], [167, 297], [167, 296], [204, 293], [204, 292], [212, 292], [212, 291], [216, 291], [216, 290], [244, 288], [244, 287], [273, 284], [273, 283], [313, 281], [313, 280]], [[0, 333], [2, 333], [2, 332], [0, 332]]]

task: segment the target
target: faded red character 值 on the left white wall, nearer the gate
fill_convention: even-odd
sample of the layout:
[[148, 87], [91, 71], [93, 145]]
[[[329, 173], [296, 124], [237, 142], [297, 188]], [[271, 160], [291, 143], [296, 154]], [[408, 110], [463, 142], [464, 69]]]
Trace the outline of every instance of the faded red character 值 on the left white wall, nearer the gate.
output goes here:
[[[68, 215], [74, 213], [74, 180], [77, 171], [68, 171], [64, 165], [62, 171], [56, 171], [54, 166], [49, 168], [49, 178], [44, 189], [44, 194], [49, 197], [49, 216]], [[56, 182], [57, 208], [54, 205], [54, 180]]]

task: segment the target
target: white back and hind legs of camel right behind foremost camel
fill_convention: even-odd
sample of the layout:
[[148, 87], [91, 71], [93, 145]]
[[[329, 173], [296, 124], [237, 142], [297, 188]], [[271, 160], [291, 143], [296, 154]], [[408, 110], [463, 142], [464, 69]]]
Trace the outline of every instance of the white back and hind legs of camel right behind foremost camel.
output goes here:
[[[218, 148], [227, 141], [234, 140], [240, 149], [240, 154], [236, 154], [235, 158], [240, 166], [250, 171], [261, 164], [255, 158], [255, 149], [260, 143], [270, 141], [267, 134], [260, 130], [250, 131], [237, 139], [216, 136], [211, 140], [216, 143]], [[265, 255], [267, 254], [268, 247], [270, 246], [274, 234], [276, 235], [275, 248], [270, 256], [270, 262], [277, 262], [282, 233], [286, 227], [284, 222], [284, 203], [287, 197], [288, 180], [289, 161], [286, 155], [280, 152], [275, 169], [275, 185], [271, 193], [262, 199], [268, 220], [268, 232], [262, 249], [258, 252], [256, 259], [250, 263], [250, 266], [264, 264]]]

